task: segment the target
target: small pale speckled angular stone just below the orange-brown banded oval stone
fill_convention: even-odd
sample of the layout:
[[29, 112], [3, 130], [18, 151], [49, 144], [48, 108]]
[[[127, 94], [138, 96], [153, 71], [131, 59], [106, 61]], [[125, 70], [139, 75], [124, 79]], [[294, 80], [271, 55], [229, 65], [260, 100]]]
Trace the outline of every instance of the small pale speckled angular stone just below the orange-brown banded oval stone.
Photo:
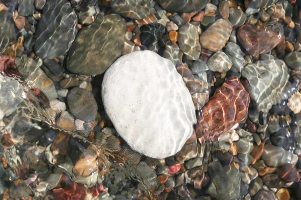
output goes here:
[[209, 58], [207, 65], [212, 71], [227, 72], [232, 66], [232, 61], [226, 53], [218, 52]]

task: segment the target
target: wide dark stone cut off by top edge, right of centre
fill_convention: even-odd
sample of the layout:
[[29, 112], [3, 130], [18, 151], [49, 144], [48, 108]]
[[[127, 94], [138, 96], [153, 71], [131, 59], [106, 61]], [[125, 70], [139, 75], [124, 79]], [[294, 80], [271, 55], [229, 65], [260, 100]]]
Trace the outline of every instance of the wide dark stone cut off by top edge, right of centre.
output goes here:
[[203, 9], [209, 0], [158, 0], [167, 11], [192, 12]]

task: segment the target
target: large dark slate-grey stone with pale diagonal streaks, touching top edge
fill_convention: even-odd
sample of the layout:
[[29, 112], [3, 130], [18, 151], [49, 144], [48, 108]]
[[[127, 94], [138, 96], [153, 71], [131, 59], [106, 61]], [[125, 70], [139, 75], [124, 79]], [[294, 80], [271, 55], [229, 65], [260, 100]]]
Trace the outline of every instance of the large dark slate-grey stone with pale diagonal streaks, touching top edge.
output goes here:
[[47, 1], [35, 33], [36, 54], [49, 59], [64, 55], [77, 34], [76, 24], [77, 16], [69, 1]]

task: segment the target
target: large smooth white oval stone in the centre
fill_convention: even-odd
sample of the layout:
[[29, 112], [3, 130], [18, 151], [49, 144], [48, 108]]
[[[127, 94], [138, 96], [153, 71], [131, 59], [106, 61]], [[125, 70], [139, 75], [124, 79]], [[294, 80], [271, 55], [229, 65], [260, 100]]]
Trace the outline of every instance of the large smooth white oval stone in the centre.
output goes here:
[[197, 122], [182, 76], [170, 60], [149, 50], [123, 55], [107, 69], [102, 100], [120, 136], [149, 157], [177, 153]]

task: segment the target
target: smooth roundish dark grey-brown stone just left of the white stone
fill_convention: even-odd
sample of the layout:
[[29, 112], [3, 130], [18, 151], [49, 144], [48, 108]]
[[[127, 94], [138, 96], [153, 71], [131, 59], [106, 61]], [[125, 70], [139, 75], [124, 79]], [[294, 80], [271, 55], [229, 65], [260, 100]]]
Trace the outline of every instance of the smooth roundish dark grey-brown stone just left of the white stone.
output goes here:
[[74, 87], [67, 96], [71, 113], [84, 121], [92, 121], [97, 114], [97, 104], [91, 92], [86, 89]]

